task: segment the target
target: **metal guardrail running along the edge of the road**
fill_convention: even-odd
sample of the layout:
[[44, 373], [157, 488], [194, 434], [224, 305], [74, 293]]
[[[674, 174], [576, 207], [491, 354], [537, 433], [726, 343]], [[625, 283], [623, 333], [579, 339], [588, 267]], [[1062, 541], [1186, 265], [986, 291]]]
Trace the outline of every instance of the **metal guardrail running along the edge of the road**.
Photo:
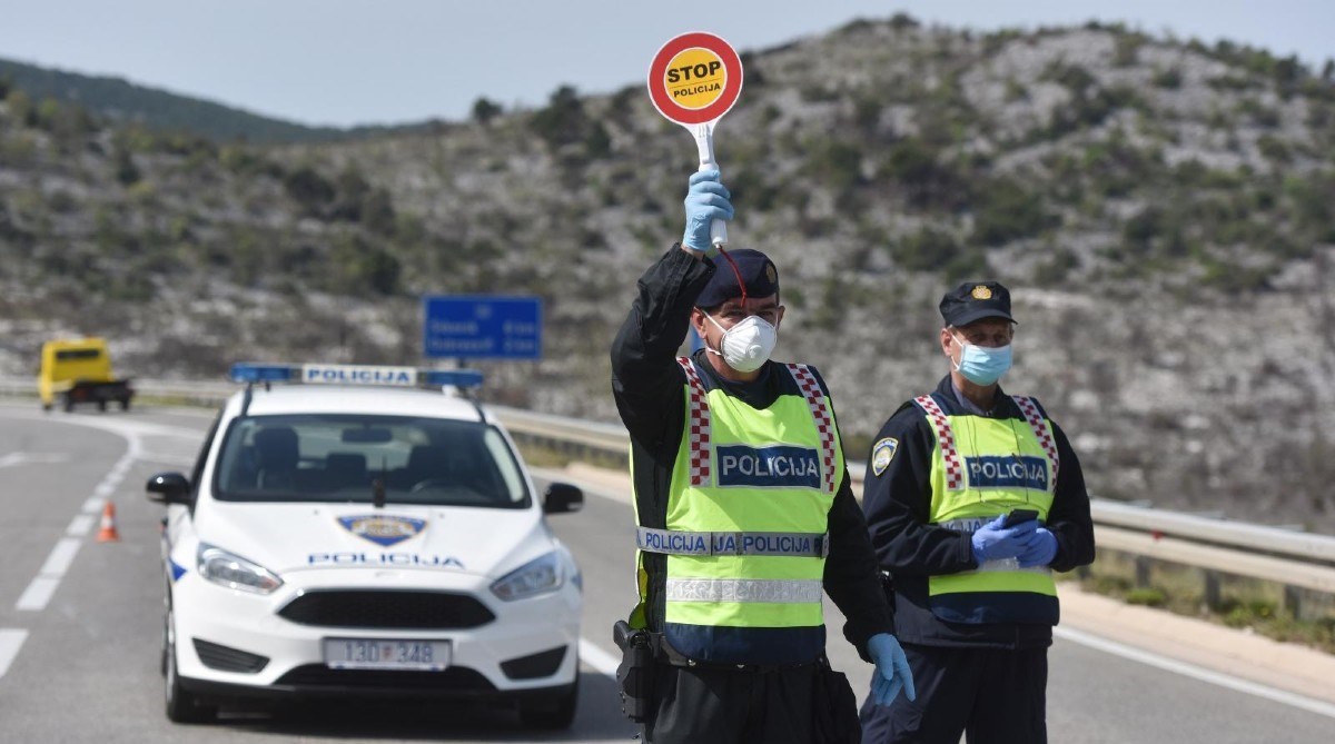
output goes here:
[[[142, 396], [218, 405], [238, 385], [218, 381], [134, 380]], [[0, 395], [36, 396], [36, 380], [0, 377]], [[619, 424], [603, 424], [493, 405], [491, 411], [517, 439], [555, 444], [571, 452], [626, 457], [630, 437]], [[862, 467], [849, 464], [854, 491], [861, 491]], [[1335, 536], [1185, 515], [1152, 507], [1093, 499], [1091, 511], [1100, 548], [1136, 556], [1137, 583], [1148, 583], [1151, 561], [1200, 568], [1206, 601], [1216, 605], [1219, 576], [1247, 576], [1286, 587], [1286, 604], [1296, 612], [1296, 589], [1335, 595]]]

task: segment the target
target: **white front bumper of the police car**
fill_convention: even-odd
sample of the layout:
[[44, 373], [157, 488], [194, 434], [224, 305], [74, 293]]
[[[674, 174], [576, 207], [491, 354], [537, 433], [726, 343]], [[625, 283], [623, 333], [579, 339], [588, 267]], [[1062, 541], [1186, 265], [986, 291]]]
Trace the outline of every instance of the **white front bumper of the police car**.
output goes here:
[[[574, 684], [578, 671], [578, 587], [502, 601], [489, 579], [439, 571], [327, 569], [284, 576], [272, 595], [227, 589], [188, 572], [172, 584], [176, 665], [182, 685], [218, 696], [413, 696], [515, 699]], [[327, 625], [315, 613], [280, 612], [323, 592], [443, 592], [470, 596], [494, 616], [465, 613], [446, 624], [411, 628]], [[370, 617], [370, 619], [367, 619]], [[370, 612], [360, 623], [392, 624]], [[478, 624], [479, 620], [481, 624]], [[327, 637], [443, 640], [450, 665], [439, 672], [332, 669], [322, 656]], [[196, 643], [200, 641], [200, 643]], [[203, 651], [203, 653], [202, 653]]]

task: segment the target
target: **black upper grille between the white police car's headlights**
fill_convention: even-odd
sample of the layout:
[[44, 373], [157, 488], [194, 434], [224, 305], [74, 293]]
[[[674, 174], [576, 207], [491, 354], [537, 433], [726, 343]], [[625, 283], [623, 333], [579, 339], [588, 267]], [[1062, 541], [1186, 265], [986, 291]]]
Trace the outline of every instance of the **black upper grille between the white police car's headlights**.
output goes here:
[[316, 591], [278, 613], [292, 623], [335, 628], [455, 629], [495, 620], [475, 597], [449, 592]]

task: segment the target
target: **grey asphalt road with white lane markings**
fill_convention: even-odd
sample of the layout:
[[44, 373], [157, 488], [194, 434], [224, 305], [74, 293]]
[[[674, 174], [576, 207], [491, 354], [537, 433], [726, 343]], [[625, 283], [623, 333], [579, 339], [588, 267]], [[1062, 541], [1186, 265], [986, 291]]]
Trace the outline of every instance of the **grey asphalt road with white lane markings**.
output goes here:
[[[158, 672], [163, 508], [159, 471], [188, 472], [211, 417], [179, 409], [41, 413], [0, 403], [0, 741], [630, 741], [607, 673], [611, 623], [634, 603], [625, 493], [587, 484], [582, 512], [551, 519], [585, 572], [583, 679], [569, 732], [534, 736], [505, 709], [323, 705], [224, 711], [182, 727]], [[99, 543], [104, 500], [120, 540]], [[830, 657], [858, 695], [870, 668], [830, 608]], [[1331, 717], [1113, 656], [1071, 640], [1051, 652], [1055, 743], [1327, 743]]]

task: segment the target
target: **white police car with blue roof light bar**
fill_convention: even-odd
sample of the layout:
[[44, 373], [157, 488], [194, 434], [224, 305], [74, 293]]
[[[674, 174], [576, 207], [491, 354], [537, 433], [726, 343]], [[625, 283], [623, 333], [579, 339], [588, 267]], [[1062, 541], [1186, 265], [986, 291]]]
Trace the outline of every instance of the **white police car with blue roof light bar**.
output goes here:
[[[238, 364], [167, 505], [167, 717], [278, 697], [442, 697], [565, 728], [578, 695], [581, 575], [471, 371]], [[434, 389], [421, 389], [426, 385]]]

